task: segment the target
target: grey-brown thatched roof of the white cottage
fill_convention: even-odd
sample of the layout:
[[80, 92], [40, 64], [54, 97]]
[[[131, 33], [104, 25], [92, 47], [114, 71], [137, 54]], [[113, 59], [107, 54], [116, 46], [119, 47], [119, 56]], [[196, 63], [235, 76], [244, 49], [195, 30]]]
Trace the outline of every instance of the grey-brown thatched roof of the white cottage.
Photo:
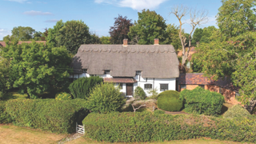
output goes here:
[[178, 58], [171, 45], [82, 45], [71, 66], [75, 73], [87, 69], [88, 74], [113, 77], [134, 77], [136, 70], [142, 78], [178, 78]]

